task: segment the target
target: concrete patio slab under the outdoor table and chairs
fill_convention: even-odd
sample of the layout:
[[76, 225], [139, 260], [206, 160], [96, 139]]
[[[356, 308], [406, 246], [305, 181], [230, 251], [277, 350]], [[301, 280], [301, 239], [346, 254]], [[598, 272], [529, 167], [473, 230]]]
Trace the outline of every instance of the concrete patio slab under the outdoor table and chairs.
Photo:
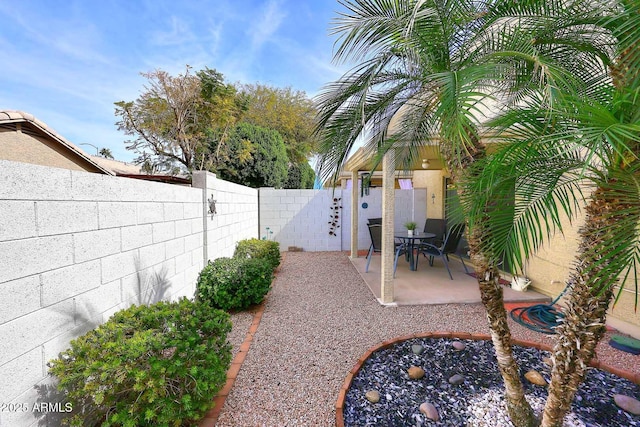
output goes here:
[[[373, 295], [380, 300], [380, 255], [371, 258], [369, 271], [365, 273], [366, 257], [351, 258], [351, 262], [366, 282]], [[449, 262], [453, 280], [441, 260], [436, 259], [433, 267], [421, 257], [416, 271], [409, 270], [409, 263], [400, 258], [394, 280], [395, 305], [462, 304], [479, 303], [478, 282], [465, 273], [459, 259], [451, 257]], [[470, 269], [471, 271], [471, 269]], [[534, 291], [514, 291], [503, 286], [504, 300], [513, 302], [549, 302], [551, 298]]]

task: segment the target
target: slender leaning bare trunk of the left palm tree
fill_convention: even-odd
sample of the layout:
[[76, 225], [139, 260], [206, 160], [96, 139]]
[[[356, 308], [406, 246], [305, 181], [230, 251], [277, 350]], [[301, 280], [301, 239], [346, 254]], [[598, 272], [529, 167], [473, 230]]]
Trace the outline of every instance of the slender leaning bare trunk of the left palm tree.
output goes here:
[[520, 370], [513, 358], [511, 330], [507, 323], [507, 311], [504, 308], [498, 268], [496, 265], [491, 265], [485, 254], [477, 249], [479, 238], [483, 233], [480, 228], [476, 226], [468, 236], [471, 261], [475, 266], [482, 304], [487, 312], [498, 368], [504, 380], [507, 412], [514, 426], [535, 427], [539, 425], [539, 421], [524, 397]]

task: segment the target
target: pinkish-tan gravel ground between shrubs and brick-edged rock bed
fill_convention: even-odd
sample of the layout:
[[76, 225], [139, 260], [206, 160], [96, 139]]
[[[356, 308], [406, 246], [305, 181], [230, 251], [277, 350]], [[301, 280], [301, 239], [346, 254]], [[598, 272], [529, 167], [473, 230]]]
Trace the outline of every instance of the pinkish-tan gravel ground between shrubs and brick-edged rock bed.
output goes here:
[[[243, 322], [234, 320], [234, 348]], [[344, 252], [287, 253], [217, 426], [333, 426], [344, 378], [370, 347], [417, 332], [486, 334], [486, 325], [479, 304], [380, 306]], [[514, 322], [511, 330], [514, 338], [553, 344]], [[601, 361], [640, 372], [637, 356], [607, 341], [598, 348]]]

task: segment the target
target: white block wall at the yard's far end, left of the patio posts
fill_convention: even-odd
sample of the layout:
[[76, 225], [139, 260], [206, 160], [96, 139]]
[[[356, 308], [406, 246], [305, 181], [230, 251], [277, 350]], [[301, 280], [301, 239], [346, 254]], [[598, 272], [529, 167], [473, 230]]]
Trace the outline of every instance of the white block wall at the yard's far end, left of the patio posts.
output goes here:
[[[276, 190], [260, 189], [260, 236], [280, 243], [280, 250], [297, 246], [305, 251], [339, 251], [342, 248], [340, 228], [329, 235], [330, 209], [333, 198], [342, 190]], [[340, 201], [344, 206], [344, 199]], [[343, 209], [339, 210], [341, 227]], [[268, 229], [267, 229], [268, 227]]]

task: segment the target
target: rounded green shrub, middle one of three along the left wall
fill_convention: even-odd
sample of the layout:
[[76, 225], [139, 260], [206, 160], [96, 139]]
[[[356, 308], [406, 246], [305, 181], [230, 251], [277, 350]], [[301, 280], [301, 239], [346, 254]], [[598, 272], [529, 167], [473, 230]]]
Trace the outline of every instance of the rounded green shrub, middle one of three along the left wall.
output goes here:
[[261, 258], [218, 258], [200, 272], [196, 299], [223, 310], [243, 310], [262, 302], [273, 269]]

